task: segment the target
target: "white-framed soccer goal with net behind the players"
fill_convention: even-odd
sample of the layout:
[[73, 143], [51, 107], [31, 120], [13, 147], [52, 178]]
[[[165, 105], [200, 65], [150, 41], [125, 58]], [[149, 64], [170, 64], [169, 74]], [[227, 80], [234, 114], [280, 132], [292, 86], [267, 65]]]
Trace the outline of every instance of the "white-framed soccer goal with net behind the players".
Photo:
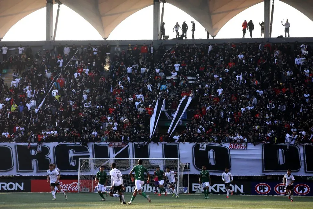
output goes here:
[[[111, 164], [116, 163], [116, 168], [122, 172], [123, 182], [125, 186], [124, 192], [133, 192], [135, 190], [135, 182], [131, 181], [130, 171], [135, 165], [138, 165], [139, 158], [79, 158], [79, 170], [78, 170], [78, 193], [82, 192], [95, 192], [95, 176], [99, 171], [100, 166], [104, 166], [104, 171], [110, 175]], [[177, 172], [176, 174], [176, 191], [182, 193], [184, 190], [182, 187], [182, 175], [185, 168], [185, 163], [179, 161], [178, 158], [141, 158], [143, 166], [150, 173], [150, 183], [147, 184], [148, 176], [145, 174], [145, 184], [142, 191], [146, 193], [155, 192], [154, 185], [154, 171], [156, 166], [160, 166], [160, 170], [166, 172], [166, 167], [170, 167], [170, 170]], [[135, 176], [135, 172], [133, 173]], [[167, 190], [170, 182], [167, 178], [164, 178], [164, 189]], [[111, 178], [108, 177], [108, 183], [106, 190], [109, 191], [111, 187]], [[179, 188], [179, 189], [178, 189]], [[180, 191], [181, 190], [181, 191]]]

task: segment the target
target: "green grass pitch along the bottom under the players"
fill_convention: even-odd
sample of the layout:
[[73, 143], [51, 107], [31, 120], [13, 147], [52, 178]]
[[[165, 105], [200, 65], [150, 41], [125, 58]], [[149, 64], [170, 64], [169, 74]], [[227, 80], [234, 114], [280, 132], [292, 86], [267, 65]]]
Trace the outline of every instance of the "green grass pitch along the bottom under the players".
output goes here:
[[[226, 195], [209, 195], [210, 199], [203, 199], [204, 195], [181, 194], [178, 199], [172, 194], [161, 197], [149, 194], [151, 203], [137, 195], [132, 205], [121, 205], [119, 198], [106, 197], [100, 201], [97, 193], [67, 193], [68, 200], [60, 193], [56, 194], [56, 201], [52, 201], [51, 193], [0, 193], [0, 208], [313, 208], [312, 197], [294, 197], [290, 202], [287, 196], [242, 196], [234, 195], [226, 199]], [[126, 202], [131, 194], [125, 194]]]

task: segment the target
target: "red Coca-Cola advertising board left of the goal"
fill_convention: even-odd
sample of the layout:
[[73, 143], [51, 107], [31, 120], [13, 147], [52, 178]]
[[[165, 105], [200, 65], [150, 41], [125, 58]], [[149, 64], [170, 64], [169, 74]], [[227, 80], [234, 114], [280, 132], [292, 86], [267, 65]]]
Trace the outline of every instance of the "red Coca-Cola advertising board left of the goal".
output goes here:
[[[68, 192], [77, 192], [78, 183], [76, 180], [60, 180], [60, 187]], [[50, 192], [50, 182], [47, 180], [31, 180], [31, 192]]]

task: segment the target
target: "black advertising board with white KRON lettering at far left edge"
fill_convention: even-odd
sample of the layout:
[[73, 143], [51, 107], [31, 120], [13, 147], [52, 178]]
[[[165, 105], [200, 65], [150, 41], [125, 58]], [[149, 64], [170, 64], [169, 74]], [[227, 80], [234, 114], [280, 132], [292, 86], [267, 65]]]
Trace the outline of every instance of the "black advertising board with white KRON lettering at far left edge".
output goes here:
[[30, 180], [0, 179], [0, 192], [30, 192]]

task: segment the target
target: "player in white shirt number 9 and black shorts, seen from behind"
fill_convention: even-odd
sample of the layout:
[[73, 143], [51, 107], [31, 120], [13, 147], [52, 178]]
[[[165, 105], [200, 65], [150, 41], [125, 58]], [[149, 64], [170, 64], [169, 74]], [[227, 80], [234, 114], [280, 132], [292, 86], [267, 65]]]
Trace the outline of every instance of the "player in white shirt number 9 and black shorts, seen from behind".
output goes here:
[[[111, 176], [111, 190], [109, 195], [111, 197], [119, 197], [120, 202], [122, 204], [126, 204], [124, 195], [121, 192], [121, 190], [124, 190], [124, 183], [122, 178], [122, 173], [120, 170], [116, 169], [116, 163], [112, 163], [112, 170], [110, 170], [110, 176]], [[115, 194], [115, 191], [117, 191], [119, 194]]]

